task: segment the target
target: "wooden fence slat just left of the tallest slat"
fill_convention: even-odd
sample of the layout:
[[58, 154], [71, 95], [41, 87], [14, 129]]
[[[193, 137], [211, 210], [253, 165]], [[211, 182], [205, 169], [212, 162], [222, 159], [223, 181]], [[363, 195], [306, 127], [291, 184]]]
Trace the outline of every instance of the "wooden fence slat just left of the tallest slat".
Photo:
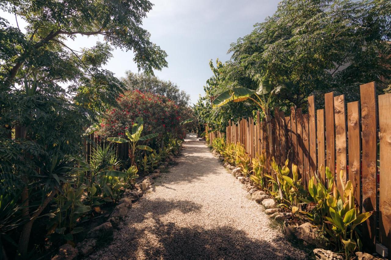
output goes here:
[[349, 180], [352, 181], [354, 197], [357, 199], [361, 210], [361, 185], [360, 185], [360, 119], [359, 102], [348, 103], [348, 151], [349, 151]]

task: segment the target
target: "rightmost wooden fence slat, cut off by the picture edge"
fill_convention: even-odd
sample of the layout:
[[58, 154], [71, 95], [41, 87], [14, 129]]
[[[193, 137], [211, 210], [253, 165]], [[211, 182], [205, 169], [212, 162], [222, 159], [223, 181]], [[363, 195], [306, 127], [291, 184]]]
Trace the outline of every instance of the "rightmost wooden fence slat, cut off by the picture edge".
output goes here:
[[391, 94], [379, 97], [380, 129], [380, 242], [391, 250]]

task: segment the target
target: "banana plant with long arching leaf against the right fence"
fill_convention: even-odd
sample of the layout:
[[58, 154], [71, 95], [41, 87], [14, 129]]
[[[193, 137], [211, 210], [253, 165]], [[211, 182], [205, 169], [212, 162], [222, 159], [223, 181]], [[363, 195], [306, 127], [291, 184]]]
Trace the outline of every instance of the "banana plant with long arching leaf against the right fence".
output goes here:
[[[286, 87], [287, 85], [279, 85], [273, 87], [269, 80], [265, 80], [259, 74], [255, 75], [253, 78], [255, 82], [258, 84], [258, 88], [256, 90], [248, 89], [246, 87], [234, 87], [232, 89], [228, 89], [217, 96], [213, 102], [212, 107], [217, 108], [225, 105], [226, 103], [232, 102], [242, 102], [245, 100], [252, 100], [256, 106], [258, 106], [265, 114], [266, 125], [267, 125], [267, 135], [269, 138], [269, 151], [271, 153], [273, 147], [273, 138], [271, 133], [271, 123], [270, 123], [270, 102], [273, 98], [274, 94], [278, 93], [282, 87]], [[269, 94], [269, 96], [265, 96]], [[254, 95], [254, 98], [252, 97]]]

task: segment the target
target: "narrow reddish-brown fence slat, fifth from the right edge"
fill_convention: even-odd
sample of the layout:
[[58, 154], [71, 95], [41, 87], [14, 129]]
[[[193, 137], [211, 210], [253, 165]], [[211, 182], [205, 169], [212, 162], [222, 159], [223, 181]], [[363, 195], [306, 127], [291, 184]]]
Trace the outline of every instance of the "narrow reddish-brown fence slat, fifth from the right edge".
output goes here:
[[335, 174], [334, 94], [325, 94], [326, 166]]

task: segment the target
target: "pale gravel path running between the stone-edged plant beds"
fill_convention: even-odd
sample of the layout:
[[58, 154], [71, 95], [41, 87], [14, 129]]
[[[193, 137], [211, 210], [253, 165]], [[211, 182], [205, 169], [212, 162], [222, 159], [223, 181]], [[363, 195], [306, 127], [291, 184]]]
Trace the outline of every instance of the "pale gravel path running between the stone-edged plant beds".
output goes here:
[[175, 160], [90, 259], [305, 258], [205, 142], [185, 142]]

